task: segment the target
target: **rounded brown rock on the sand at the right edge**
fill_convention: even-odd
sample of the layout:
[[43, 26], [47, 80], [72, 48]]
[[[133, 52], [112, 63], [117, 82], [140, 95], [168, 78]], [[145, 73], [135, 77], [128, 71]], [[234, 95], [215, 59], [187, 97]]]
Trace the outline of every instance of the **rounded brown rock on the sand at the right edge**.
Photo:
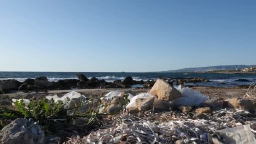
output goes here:
[[232, 109], [242, 109], [242, 110], [254, 110], [255, 106], [252, 101], [241, 99], [241, 98], [233, 98], [228, 99], [228, 107]]

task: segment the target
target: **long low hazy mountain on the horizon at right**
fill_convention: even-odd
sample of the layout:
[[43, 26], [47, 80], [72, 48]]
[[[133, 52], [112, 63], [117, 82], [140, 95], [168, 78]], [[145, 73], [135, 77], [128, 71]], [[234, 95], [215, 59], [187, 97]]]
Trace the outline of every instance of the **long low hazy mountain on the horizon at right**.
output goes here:
[[192, 67], [177, 70], [167, 70], [161, 72], [205, 72], [210, 70], [226, 70], [226, 69], [244, 69], [248, 67], [256, 67], [256, 65], [227, 65], [227, 66], [211, 66], [211, 67]]

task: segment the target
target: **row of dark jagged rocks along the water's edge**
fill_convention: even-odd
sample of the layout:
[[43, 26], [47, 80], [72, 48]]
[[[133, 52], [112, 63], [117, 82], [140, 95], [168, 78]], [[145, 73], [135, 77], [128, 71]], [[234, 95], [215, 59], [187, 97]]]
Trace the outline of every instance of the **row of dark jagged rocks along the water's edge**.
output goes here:
[[[48, 81], [48, 78], [37, 77], [35, 79], [28, 78], [24, 82], [17, 80], [2, 80], [0, 81], [0, 88], [4, 93], [12, 91], [47, 91], [47, 90], [64, 90], [72, 88], [131, 88], [131, 85], [144, 85], [144, 88], [152, 88], [155, 84], [155, 80], [149, 79], [146, 82], [143, 80], [133, 80], [131, 76], [122, 80], [115, 80], [113, 82], [107, 82], [105, 80], [99, 80], [96, 77], [88, 79], [83, 74], [77, 74], [78, 79], [65, 79], [57, 82]], [[196, 82], [208, 82], [205, 78], [190, 78], [190, 79], [168, 79], [169, 83], [184, 84], [184, 83], [196, 83]], [[1, 93], [1, 92], [0, 92]]]

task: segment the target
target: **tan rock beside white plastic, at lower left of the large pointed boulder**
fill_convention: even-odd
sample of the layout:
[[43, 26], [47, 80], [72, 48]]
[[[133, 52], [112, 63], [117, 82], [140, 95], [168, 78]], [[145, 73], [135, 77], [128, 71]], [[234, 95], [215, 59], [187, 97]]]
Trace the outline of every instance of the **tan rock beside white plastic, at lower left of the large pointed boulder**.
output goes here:
[[138, 98], [135, 100], [136, 107], [139, 111], [146, 111], [153, 108], [154, 97]]

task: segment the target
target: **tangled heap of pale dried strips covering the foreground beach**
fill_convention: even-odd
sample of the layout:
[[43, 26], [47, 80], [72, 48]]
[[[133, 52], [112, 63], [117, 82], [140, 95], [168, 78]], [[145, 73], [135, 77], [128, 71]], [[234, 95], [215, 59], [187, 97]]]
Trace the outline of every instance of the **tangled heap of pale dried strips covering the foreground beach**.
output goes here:
[[[138, 116], [140, 115], [140, 116]], [[200, 139], [204, 135], [210, 135], [215, 139], [219, 130], [235, 128], [242, 125], [255, 125], [256, 118], [250, 117], [250, 113], [239, 109], [222, 109], [214, 111], [213, 115], [207, 115], [209, 120], [191, 119], [187, 115], [179, 112], [163, 112], [152, 114], [139, 113], [135, 115], [120, 115], [115, 118], [115, 125], [110, 128], [100, 129], [91, 132], [88, 136], [73, 136], [65, 144], [87, 143], [165, 143], [173, 144], [177, 141], [181, 143], [205, 143], [209, 142]], [[157, 118], [155, 118], [157, 117]], [[246, 126], [251, 141], [256, 141], [254, 134], [256, 128], [251, 129]], [[251, 131], [254, 133], [252, 134]], [[240, 131], [236, 131], [239, 133]], [[244, 136], [244, 135], [243, 135]], [[247, 139], [246, 136], [241, 139]], [[218, 139], [218, 141], [223, 141]]]

